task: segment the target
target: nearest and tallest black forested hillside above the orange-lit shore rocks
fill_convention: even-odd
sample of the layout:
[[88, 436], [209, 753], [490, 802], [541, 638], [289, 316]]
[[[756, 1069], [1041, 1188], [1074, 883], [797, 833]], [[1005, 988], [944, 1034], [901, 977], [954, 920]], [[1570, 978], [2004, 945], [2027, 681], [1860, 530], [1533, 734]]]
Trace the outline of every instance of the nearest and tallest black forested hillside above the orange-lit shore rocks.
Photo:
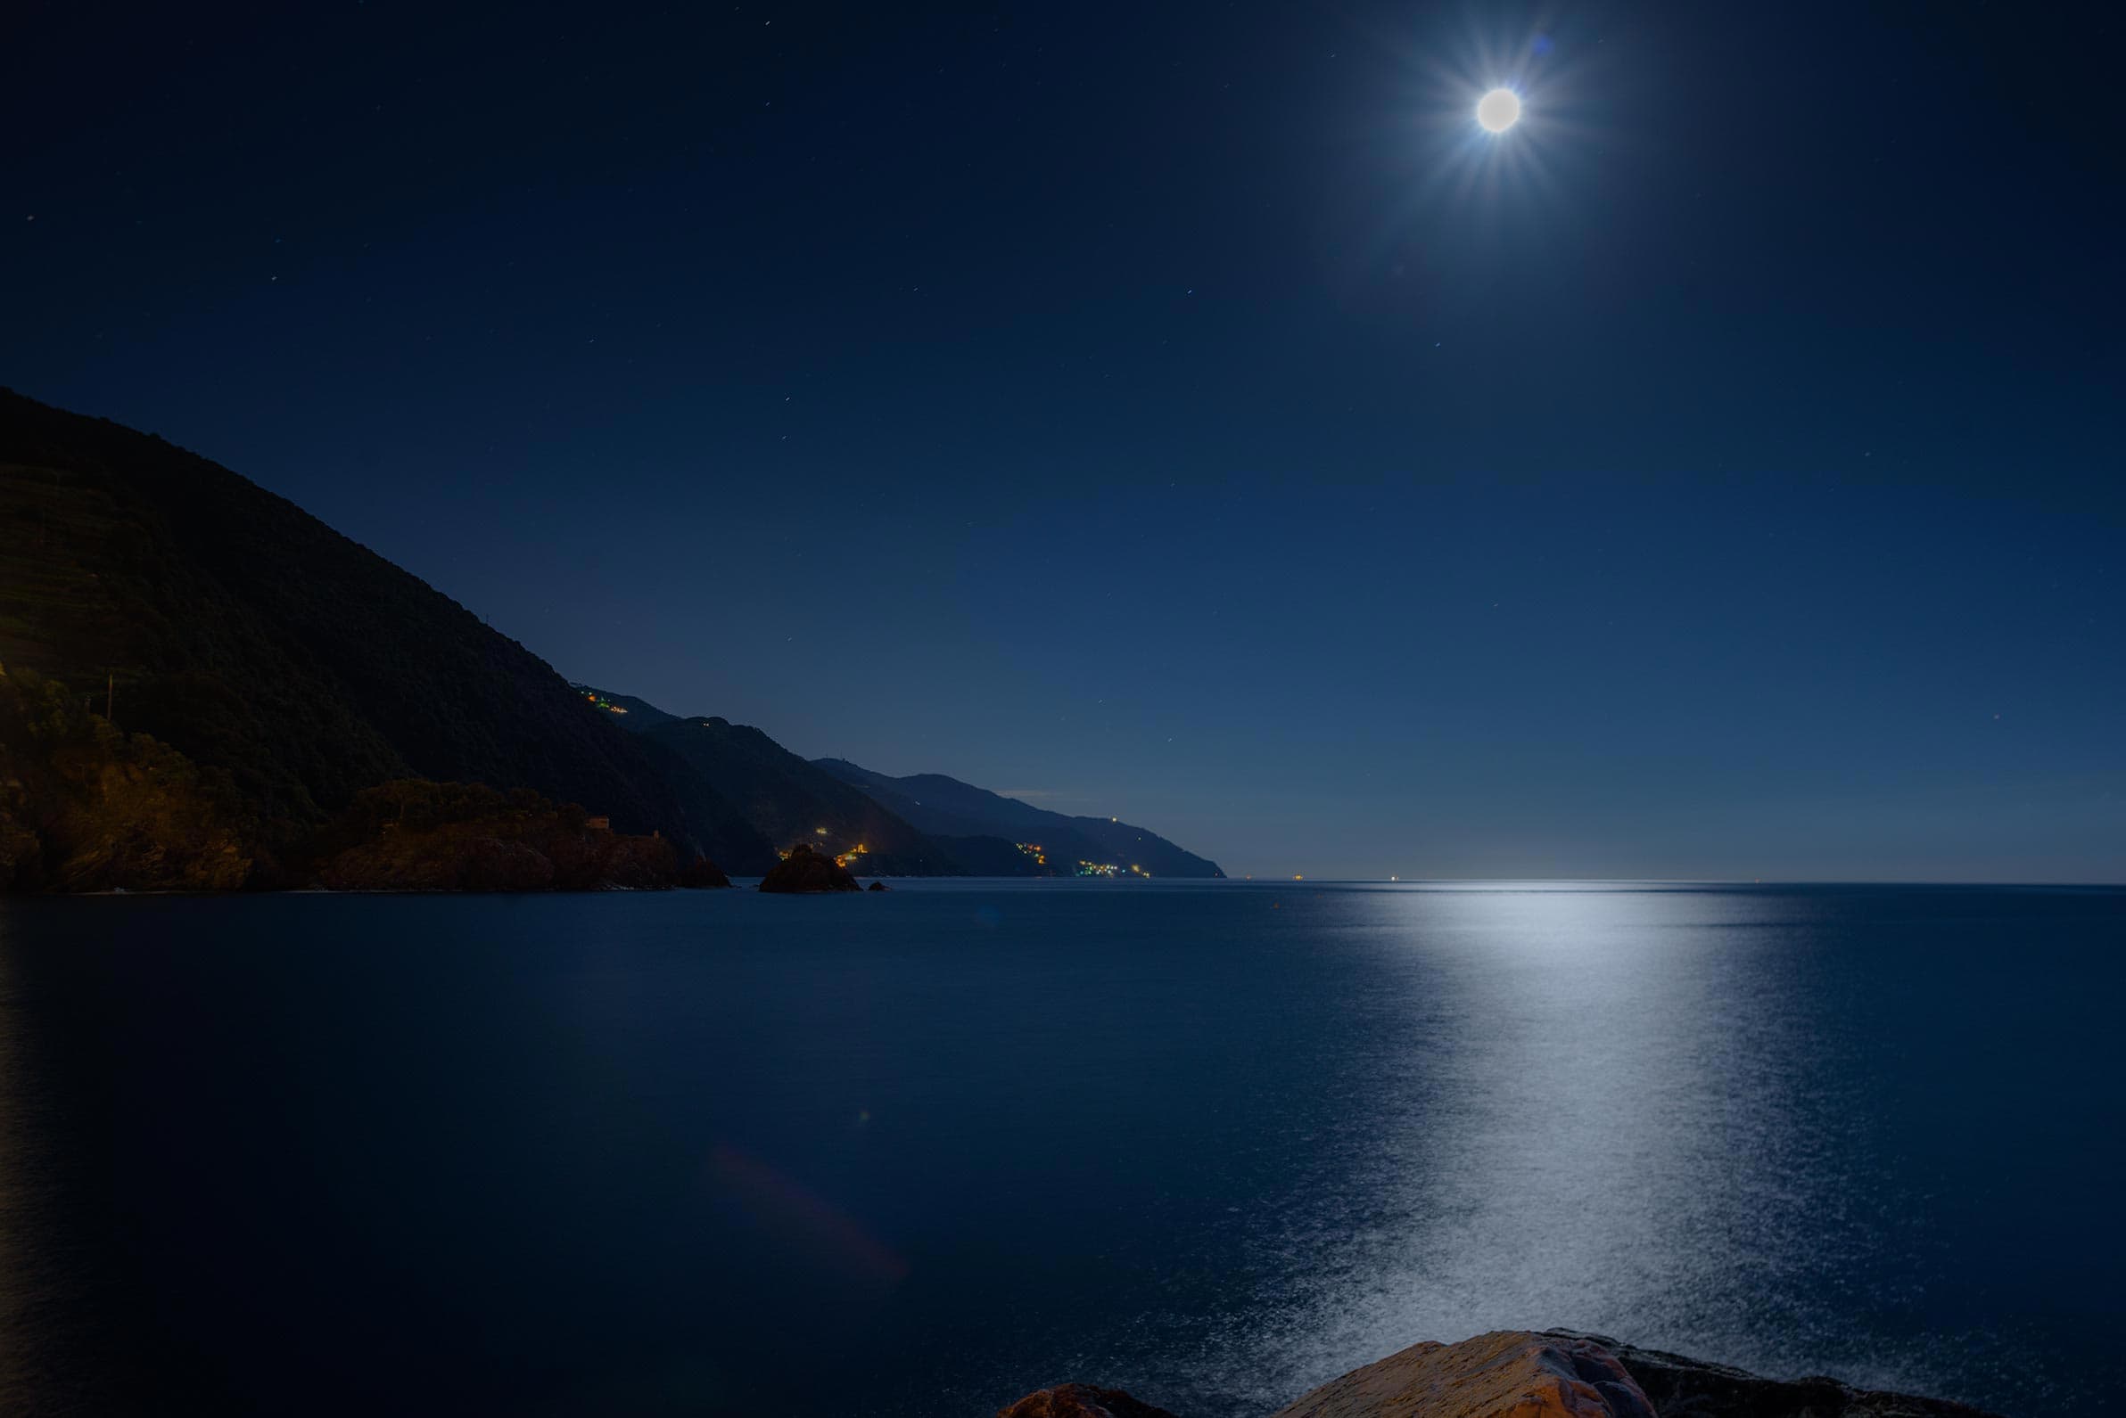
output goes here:
[[162, 438], [0, 391], [0, 670], [57, 680], [287, 848], [395, 778], [534, 789], [731, 872], [767, 840], [687, 755], [291, 502]]

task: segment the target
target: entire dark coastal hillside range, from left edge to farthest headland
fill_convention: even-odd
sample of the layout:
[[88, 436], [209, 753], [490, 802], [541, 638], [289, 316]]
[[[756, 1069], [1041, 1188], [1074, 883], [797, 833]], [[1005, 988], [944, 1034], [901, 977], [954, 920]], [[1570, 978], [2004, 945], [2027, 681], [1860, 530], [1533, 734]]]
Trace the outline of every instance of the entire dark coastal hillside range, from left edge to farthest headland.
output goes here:
[[[442, 791], [408, 780], [574, 804], [676, 870], [757, 874], [804, 840], [878, 874], [1218, 874], [1125, 823], [570, 685], [227, 468], [0, 389], [0, 889], [296, 884], [357, 795]], [[378, 880], [436, 876], [415, 838], [385, 855]]]

